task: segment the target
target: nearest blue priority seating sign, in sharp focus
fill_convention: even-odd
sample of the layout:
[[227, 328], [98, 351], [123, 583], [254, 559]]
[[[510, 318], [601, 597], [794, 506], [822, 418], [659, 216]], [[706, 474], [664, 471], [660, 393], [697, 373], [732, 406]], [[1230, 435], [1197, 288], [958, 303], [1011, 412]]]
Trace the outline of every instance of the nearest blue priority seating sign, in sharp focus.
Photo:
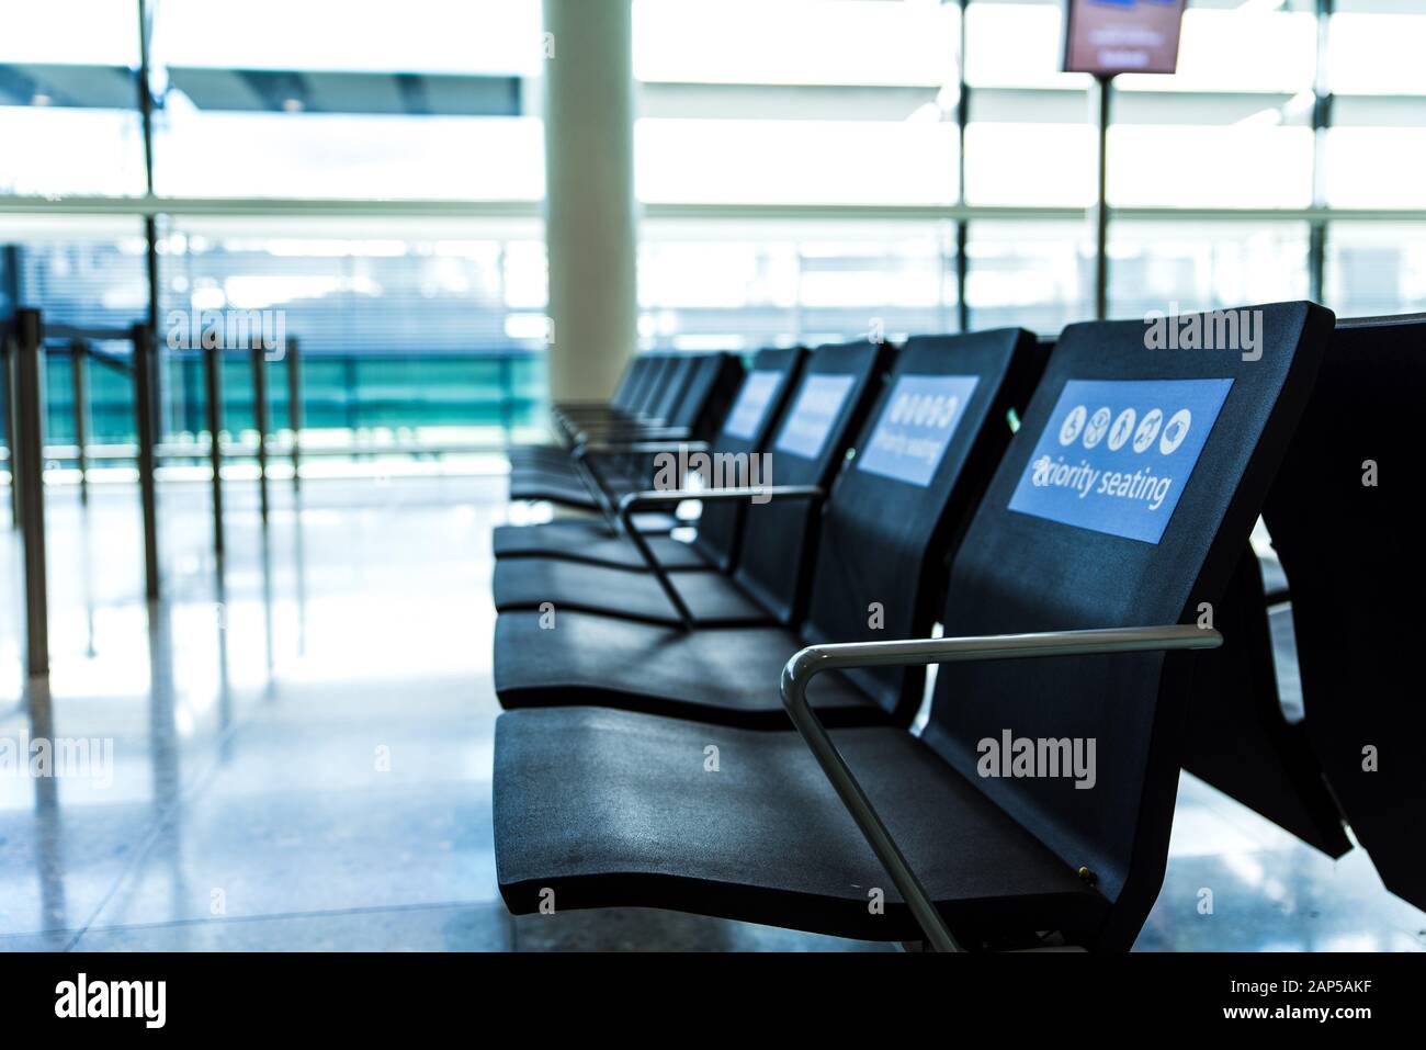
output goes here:
[[1232, 379], [1071, 379], [1010, 509], [1158, 544]]

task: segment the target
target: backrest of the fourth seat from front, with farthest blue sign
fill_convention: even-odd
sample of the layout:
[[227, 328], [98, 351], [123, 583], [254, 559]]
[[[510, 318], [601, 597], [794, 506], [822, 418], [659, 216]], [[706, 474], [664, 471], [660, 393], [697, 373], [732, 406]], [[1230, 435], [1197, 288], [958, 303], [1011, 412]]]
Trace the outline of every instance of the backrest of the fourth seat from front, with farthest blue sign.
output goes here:
[[[763, 451], [773, 425], [781, 418], [797, 377], [801, 374], [807, 351], [801, 347], [760, 350], [753, 368], [743, 378], [732, 408], [723, 418], [723, 428], [710, 442], [714, 457], [722, 457], [722, 475], [733, 464], [734, 478], [747, 457]], [[710, 467], [717, 472], [719, 461]], [[746, 475], [744, 475], [746, 476]], [[713, 478], [704, 478], [712, 481]], [[743, 522], [744, 504], [704, 504], [699, 516], [699, 532], [693, 544], [722, 571], [732, 568], [737, 556], [737, 539]]]

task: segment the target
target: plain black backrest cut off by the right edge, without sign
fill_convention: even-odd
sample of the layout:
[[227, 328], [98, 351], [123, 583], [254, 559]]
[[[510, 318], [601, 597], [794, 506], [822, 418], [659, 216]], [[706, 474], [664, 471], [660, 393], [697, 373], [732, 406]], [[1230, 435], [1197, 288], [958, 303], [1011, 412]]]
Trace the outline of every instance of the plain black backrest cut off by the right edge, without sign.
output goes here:
[[1426, 552], [1407, 461], [1423, 389], [1426, 315], [1339, 324], [1263, 512], [1292, 596], [1308, 740], [1382, 882], [1416, 907]]

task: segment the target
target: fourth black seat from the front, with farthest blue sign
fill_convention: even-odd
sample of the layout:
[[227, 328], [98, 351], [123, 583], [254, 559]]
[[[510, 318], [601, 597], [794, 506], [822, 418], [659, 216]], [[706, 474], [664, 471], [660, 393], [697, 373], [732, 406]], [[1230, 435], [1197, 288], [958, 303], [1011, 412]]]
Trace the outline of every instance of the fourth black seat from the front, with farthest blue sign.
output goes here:
[[[787, 395], [801, 371], [806, 351], [797, 347], [763, 350], [743, 378], [743, 387], [707, 449], [714, 457], [747, 457], [763, 451], [773, 424], [781, 417]], [[677, 454], [677, 445], [667, 447]], [[686, 544], [667, 536], [650, 536], [659, 564], [672, 571], [726, 569], [742, 522], [740, 504], [709, 504], [699, 521], [699, 534]], [[549, 556], [589, 565], [613, 565], [643, 572], [647, 565], [637, 548], [622, 535], [612, 535], [607, 522], [549, 522], [545, 525], [502, 525], [495, 529], [496, 558]]]

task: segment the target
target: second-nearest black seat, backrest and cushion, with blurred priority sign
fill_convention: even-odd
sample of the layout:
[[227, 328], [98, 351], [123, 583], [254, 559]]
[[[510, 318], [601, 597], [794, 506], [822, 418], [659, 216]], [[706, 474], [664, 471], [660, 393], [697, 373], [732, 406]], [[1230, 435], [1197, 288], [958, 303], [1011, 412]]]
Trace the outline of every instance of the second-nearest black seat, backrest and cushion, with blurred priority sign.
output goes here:
[[[503, 612], [495, 628], [501, 702], [508, 708], [607, 703], [729, 725], [790, 728], [767, 683], [799, 648], [931, 629], [945, 554], [1010, 441], [1010, 408], [1024, 407], [1040, 367], [1032, 337], [1014, 328], [907, 344], [820, 519], [809, 615], [800, 633], [789, 626], [720, 631], [706, 623], [684, 632], [563, 609], [555, 612], [549, 631], [548, 613]], [[944, 411], [945, 398], [967, 388], [948, 418], [931, 419], [930, 428], [914, 425], [918, 407]], [[886, 455], [927, 435], [944, 445], [923, 449], [920, 459]], [[914, 471], [910, 475], [907, 465]], [[753, 531], [746, 542], [783, 549]], [[680, 576], [676, 585], [692, 592], [689, 582]], [[920, 669], [853, 672], [820, 679], [811, 699], [831, 725], [906, 723], [921, 689]]]

